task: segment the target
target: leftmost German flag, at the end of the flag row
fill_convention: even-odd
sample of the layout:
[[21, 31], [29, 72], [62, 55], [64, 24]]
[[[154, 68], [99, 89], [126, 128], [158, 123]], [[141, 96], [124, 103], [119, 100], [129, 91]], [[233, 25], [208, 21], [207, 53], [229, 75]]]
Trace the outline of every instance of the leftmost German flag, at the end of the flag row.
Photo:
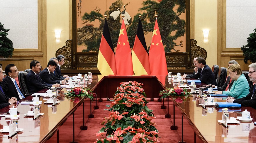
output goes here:
[[115, 53], [111, 42], [106, 18], [101, 36], [97, 67], [101, 75], [116, 75]]

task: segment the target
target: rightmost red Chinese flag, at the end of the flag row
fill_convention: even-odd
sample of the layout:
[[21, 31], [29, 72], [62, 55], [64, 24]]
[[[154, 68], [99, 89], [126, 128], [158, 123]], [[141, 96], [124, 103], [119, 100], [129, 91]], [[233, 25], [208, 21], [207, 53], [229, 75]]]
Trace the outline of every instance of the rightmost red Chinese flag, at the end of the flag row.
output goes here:
[[149, 64], [151, 75], [167, 75], [165, 49], [162, 43], [157, 20], [155, 20], [155, 27], [149, 49]]

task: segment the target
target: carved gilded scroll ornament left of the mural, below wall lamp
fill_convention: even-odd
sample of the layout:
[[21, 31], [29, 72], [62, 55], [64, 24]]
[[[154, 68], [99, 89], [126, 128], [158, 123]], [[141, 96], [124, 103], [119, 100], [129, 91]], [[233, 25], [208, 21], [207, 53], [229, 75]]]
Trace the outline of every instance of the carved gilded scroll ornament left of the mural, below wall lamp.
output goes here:
[[71, 63], [72, 63], [72, 40], [67, 40], [66, 45], [62, 48], [58, 49], [55, 53], [56, 57], [60, 54], [62, 54], [65, 57], [65, 63], [62, 66], [63, 69], [72, 69]]

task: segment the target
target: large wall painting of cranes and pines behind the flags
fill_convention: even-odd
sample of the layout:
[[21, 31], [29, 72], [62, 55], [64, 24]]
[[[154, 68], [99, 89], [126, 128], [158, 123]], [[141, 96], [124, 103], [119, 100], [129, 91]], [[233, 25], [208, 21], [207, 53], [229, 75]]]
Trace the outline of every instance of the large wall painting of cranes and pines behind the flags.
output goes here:
[[155, 14], [165, 52], [186, 52], [186, 0], [77, 0], [77, 52], [98, 52], [107, 15], [113, 46], [116, 47], [122, 15], [130, 47], [133, 47], [139, 15], [148, 48]]

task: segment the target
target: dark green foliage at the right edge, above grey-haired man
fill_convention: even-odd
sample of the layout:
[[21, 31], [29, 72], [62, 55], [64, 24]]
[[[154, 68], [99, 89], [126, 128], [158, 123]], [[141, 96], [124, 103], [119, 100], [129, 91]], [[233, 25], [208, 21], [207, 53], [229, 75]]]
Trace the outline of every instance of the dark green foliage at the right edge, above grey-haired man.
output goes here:
[[256, 29], [254, 29], [253, 31], [254, 33], [249, 34], [249, 37], [247, 38], [247, 45], [243, 45], [243, 47], [241, 47], [241, 50], [243, 51], [243, 56], [245, 56], [245, 64], [248, 63], [248, 60], [250, 60], [250, 62], [252, 63], [256, 62]]

